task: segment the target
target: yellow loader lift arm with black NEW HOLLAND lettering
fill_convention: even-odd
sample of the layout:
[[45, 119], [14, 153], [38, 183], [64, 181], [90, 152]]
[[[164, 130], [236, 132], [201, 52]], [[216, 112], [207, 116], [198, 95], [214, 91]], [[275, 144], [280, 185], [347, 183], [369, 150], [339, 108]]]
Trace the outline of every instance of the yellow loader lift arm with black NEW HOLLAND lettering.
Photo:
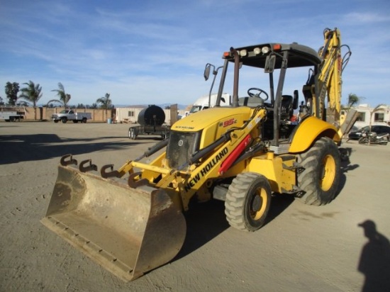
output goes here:
[[[194, 152], [189, 161], [177, 169], [167, 169], [164, 166], [158, 167], [155, 164], [142, 162], [130, 162], [125, 164], [120, 172], [132, 173], [134, 168], [143, 169], [142, 172], [137, 172], [137, 175], [132, 176], [133, 181], [129, 185], [136, 185], [140, 179], [147, 178], [148, 185], [157, 189], [165, 189], [172, 201], [181, 201], [179, 207], [188, 210], [191, 197], [204, 186], [206, 180], [216, 179], [228, 171], [229, 166], [235, 162], [235, 159], [232, 158], [233, 155], [240, 154], [237, 152], [233, 154], [236, 147], [250, 140], [248, 135], [253, 133], [253, 129], [257, 128], [266, 116], [266, 109], [255, 108], [252, 117], [243, 127], [228, 130], [211, 145]], [[242, 147], [241, 152], [244, 149], [245, 147]], [[224, 164], [221, 169], [223, 162], [229, 157], [231, 162]], [[161, 177], [158, 178], [159, 176]], [[156, 181], [156, 179], [158, 180]], [[179, 198], [177, 198], [178, 193], [182, 193]]]

